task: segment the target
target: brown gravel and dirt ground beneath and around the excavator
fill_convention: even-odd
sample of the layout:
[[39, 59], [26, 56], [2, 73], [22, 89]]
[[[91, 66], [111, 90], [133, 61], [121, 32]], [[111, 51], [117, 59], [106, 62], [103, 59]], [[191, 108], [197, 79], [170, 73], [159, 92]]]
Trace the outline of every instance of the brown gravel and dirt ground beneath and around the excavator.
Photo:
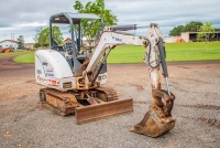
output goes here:
[[[34, 72], [33, 66], [30, 70]], [[0, 147], [220, 147], [220, 64], [170, 64], [168, 70], [170, 89], [176, 95], [176, 126], [158, 138], [129, 131], [152, 101], [145, 65], [109, 66], [106, 86], [113, 86], [122, 99], [133, 97], [133, 113], [84, 125], [38, 103], [42, 86], [35, 84], [33, 73], [2, 76], [0, 72]]]

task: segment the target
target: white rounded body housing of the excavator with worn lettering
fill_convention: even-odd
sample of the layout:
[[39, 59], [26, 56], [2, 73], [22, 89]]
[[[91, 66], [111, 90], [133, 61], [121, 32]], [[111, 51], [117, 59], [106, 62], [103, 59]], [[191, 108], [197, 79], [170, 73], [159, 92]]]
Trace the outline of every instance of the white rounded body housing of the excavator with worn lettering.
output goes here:
[[[74, 77], [66, 59], [55, 50], [38, 50], [35, 52], [35, 80], [36, 83], [59, 91], [80, 88], [78, 80]], [[108, 74], [99, 74], [97, 82], [107, 83]]]

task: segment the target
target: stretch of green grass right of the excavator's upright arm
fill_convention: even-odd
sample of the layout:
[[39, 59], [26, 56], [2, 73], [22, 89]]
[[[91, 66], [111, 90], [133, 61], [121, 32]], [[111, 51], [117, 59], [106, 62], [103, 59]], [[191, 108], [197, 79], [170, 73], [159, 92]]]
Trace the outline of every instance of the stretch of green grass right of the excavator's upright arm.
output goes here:
[[220, 42], [166, 44], [167, 62], [195, 62], [220, 60]]

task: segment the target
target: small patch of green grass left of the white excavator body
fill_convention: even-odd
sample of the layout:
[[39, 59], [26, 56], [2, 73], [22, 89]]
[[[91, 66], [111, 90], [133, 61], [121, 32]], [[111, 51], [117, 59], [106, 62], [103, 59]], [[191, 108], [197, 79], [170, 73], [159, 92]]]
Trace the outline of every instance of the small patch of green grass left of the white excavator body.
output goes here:
[[18, 55], [16, 57], [13, 59], [14, 62], [16, 63], [22, 63], [22, 64], [33, 64], [34, 63], [34, 52], [28, 52], [22, 55]]

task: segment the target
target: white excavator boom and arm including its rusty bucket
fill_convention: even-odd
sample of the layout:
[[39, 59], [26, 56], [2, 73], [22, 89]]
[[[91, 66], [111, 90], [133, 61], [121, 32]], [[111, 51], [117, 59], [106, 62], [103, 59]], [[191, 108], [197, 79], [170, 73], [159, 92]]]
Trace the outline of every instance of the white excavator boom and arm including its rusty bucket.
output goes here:
[[[96, 51], [87, 63], [88, 65], [84, 73], [88, 75], [91, 74], [95, 68], [97, 68], [97, 65], [99, 65], [98, 70], [95, 71], [96, 74], [88, 76], [91, 77], [88, 84], [92, 86], [103, 65], [102, 62], [114, 46], [122, 44], [143, 45], [145, 47], [144, 61], [148, 65], [150, 71], [153, 103], [150, 105], [150, 109], [146, 112], [144, 118], [139, 124], [134, 125], [131, 131], [150, 137], [158, 137], [169, 131], [175, 126], [175, 119], [170, 114], [175, 96], [169, 91], [163, 35], [157, 24], [154, 23], [148, 25], [146, 36], [135, 36], [133, 34], [118, 32], [135, 30], [136, 28], [139, 27], [135, 24], [106, 28], [100, 35]], [[166, 91], [162, 89], [161, 75], [165, 77]]]

